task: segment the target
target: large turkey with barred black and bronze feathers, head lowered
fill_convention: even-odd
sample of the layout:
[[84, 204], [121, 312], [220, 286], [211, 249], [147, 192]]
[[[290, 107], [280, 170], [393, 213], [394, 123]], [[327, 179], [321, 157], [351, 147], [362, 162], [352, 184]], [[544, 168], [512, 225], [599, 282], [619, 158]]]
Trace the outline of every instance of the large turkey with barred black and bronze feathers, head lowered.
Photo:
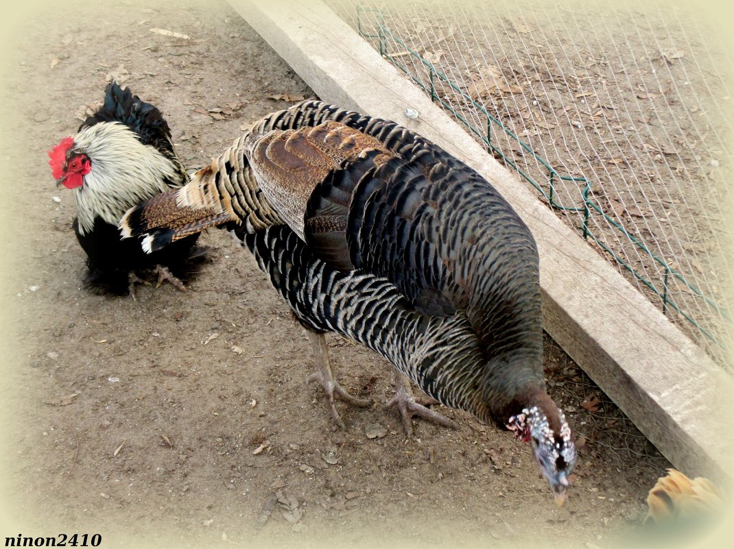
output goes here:
[[413, 131], [306, 100], [264, 117], [180, 190], [126, 213], [123, 235], [155, 252], [207, 226], [250, 249], [307, 328], [319, 372], [325, 332], [360, 342], [398, 372], [406, 430], [429, 397], [530, 442], [556, 501], [575, 447], [545, 391], [538, 254], [527, 226], [479, 174]]

